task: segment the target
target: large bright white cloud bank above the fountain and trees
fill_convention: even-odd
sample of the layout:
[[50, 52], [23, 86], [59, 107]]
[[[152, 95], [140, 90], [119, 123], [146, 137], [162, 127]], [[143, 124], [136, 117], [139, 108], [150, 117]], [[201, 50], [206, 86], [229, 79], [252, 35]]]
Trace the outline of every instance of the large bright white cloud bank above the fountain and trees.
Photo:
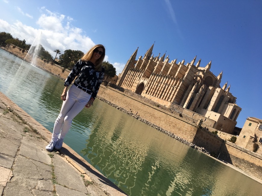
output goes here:
[[[17, 10], [23, 11], [17, 7]], [[27, 26], [17, 20], [13, 24], [9, 24], [5, 20], [0, 19], [1, 31], [9, 32], [13, 37], [20, 40], [25, 39], [27, 44], [33, 44], [36, 37], [40, 44], [43, 45], [45, 50], [49, 51], [53, 57], [55, 49], [62, 51], [65, 50], [80, 50], [86, 53], [95, 43], [84, 34], [83, 30], [71, 25], [73, 18], [66, 17], [63, 14], [53, 13], [45, 7], [40, 9], [42, 15], [37, 19], [39, 29]], [[39, 44], [36, 43], [33, 45]], [[107, 57], [107, 56], [106, 56]], [[107, 57], [108, 58], [108, 57]]]

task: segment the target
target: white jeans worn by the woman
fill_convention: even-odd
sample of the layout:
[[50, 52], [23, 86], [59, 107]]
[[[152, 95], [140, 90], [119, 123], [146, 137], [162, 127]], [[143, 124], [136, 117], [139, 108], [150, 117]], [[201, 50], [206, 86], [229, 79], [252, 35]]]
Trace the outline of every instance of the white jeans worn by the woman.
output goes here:
[[63, 101], [63, 105], [58, 115], [52, 134], [52, 141], [56, 142], [57, 139], [64, 139], [65, 135], [69, 131], [72, 120], [75, 116], [81, 112], [88, 101], [91, 98], [91, 94], [77, 88], [72, 85], [67, 91], [66, 100]]

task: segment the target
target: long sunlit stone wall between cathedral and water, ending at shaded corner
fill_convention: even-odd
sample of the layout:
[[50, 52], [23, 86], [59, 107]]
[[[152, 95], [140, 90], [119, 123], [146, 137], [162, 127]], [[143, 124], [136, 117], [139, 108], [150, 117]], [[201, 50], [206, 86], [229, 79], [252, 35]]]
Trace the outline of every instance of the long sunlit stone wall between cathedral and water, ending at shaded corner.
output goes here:
[[172, 115], [171, 113], [166, 113], [156, 106], [151, 106], [147, 103], [135, 100], [125, 93], [117, 91], [111, 87], [100, 87], [98, 96], [101, 96], [126, 110], [131, 109], [134, 114], [137, 113], [141, 118], [154, 123], [189, 142], [192, 142], [195, 137], [198, 129], [196, 124], [192, 124], [192, 122]]

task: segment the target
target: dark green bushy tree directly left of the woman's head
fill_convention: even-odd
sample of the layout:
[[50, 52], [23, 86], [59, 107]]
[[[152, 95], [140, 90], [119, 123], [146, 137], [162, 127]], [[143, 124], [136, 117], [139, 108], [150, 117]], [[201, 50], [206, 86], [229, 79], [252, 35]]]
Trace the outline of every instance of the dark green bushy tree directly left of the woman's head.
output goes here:
[[84, 55], [82, 51], [75, 50], [65, 50], [64, 54], [59, 56], [60, 66], [67, 69], [72, 69], [76, 62]]

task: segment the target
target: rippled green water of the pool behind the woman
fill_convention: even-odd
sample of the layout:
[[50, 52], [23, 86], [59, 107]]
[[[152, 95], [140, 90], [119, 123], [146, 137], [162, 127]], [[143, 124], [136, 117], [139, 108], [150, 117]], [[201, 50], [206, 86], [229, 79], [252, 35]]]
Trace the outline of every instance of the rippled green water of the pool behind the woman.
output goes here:
[[[52, 132], [64, 81], [0, 50], [0, 90]], [[260, 195], [262, 185], [96, 99], [64, 142], [128, 195]]]

